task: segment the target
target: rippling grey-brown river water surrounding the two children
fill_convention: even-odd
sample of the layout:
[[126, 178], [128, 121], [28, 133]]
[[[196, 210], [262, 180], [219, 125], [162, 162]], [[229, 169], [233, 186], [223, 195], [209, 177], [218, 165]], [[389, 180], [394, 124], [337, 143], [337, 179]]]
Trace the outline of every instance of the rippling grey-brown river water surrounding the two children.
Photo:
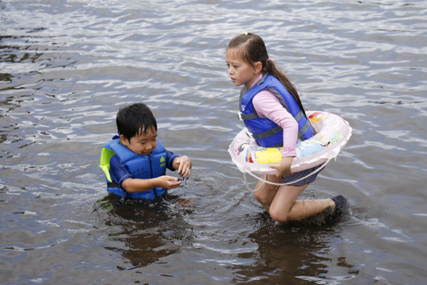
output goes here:
[[[302, 194], [345, 195], [343, 219], [273, 222], [231, 162], [245, 31], [352, 126]], [[0, 1], [0, 283], [426, 284], [426, 46], [420, 0]], [[97, 167], [135, 102], [194, 163], [155, 204], [117, 204]]]

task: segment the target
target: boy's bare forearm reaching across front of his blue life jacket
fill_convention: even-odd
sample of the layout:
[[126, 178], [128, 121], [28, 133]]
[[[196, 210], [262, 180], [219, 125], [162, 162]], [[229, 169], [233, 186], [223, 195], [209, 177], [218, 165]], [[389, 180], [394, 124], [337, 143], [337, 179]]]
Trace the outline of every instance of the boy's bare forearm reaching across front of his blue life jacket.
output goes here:
[[178, 187], [180, 184], [181, 181], [178, 181], [178, 178], [163, 175], [151, 179], [127, 178], [122, 182], [122, 188], [127, 192], [137, 193], [144, 192], [155, 187], [162, 187], [169, 190]]

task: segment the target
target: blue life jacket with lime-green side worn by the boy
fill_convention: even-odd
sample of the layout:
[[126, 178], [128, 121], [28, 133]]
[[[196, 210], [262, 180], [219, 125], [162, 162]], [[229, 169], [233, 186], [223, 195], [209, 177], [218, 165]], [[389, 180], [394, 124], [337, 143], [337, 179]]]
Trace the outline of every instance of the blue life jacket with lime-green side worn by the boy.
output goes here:
[[117, 183], [112, 182], [110, 176], [110, 159], [113, 155], [119, 157], [122, 166], [132, 174], [132, 178], [150, 179], [165, 175], [166, 173], [166, 150], [162, 142], [157, 139], [157, 147], [149, 155], [137, 155], [132, 150], [129, 150], [125, 145], [122, 145], [119, 137], [115, 135], [112, 141], [107, 142], [102, 146], [100, 167], [105, 173], [107, 179], [107, 191], [127, 198], [134, 199], [154, 199], [155, 197], [164, 197], [167, 190], [162, 187], [156, 187], [152, 190], [144, 192], [130, 193], [121, 188]]

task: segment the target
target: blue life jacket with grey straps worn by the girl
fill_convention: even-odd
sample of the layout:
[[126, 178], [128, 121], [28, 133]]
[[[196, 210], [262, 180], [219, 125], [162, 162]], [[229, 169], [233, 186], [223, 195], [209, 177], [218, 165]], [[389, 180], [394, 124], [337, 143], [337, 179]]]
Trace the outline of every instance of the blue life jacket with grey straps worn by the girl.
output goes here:
[[261, 147], [282, 147], [283, 146], [283, 128], [277, 125], [267, 117], [260, 117], [253, 108], [253, 97], [260, 90], [267, 89], [272, 92], [279, 100], [283, 108], [293, 116], [298, 123], [298, 136], [302, 140], [307, 140], [314, 135], [314, 130], [310, 120], [300, 109], [297, 101], [286, 90], [282, 83], [274, 76], [265, 73], [263, 78], [255, 86], [248, 90], [244, 87], [241, 90], [239, 120], [244, 120], [249, 132], [248, 136], [255, 139]]

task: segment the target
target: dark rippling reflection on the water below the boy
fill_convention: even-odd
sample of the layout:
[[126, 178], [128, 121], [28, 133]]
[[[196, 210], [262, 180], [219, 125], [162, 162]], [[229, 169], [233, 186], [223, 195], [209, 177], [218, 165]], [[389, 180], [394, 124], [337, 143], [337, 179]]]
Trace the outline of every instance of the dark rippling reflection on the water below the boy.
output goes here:
[[94, 212], [100, 222], [112, 227], [108, 238], [117, 242], [116, 247], [105, 249], [118, 252], [131, 270], [158, 262], [162, 257], [176, 254], [193, 243], [193, 229], [184, 221], [191, 213], [189, 200], [167, 195], [154, 202], [127, 200], [120, 202], [115, 195], [97, 201]]

